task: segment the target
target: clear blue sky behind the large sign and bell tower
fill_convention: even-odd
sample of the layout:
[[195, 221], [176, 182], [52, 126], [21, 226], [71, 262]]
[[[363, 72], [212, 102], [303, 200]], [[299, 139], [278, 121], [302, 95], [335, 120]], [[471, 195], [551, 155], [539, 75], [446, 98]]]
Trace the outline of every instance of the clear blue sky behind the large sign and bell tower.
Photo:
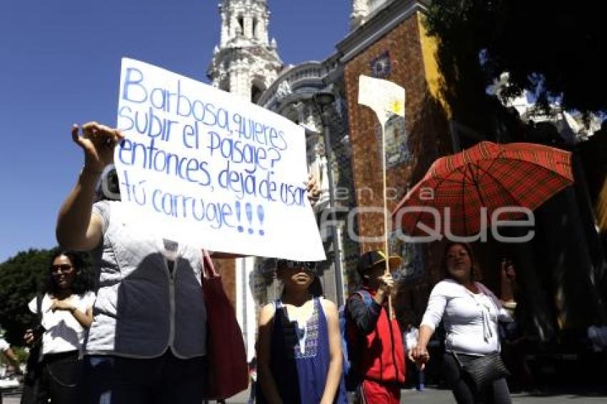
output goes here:
[[[219, 0], [0, 3], [0, 262], [56, 244], [56, 212], [82, 164], [72, 123], [114, 125], [120, 60], [206, 81]], [[270, 0], [286, 64], [322, 60], [348, 32], [350, 0]]]

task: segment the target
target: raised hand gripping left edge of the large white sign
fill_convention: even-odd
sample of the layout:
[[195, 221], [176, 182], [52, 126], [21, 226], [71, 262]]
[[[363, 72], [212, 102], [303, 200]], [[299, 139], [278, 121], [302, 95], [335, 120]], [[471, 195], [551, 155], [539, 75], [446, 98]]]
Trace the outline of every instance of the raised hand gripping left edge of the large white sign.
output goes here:
[[105, 166], [114, 161], [114, 147], [124, 136], [118, 129], [87, 122], [82, 125], [82, 136], [79, 134], [79, 126], [74, 124], [71, 138], [84, 151], [84, 168], [101, 173]]

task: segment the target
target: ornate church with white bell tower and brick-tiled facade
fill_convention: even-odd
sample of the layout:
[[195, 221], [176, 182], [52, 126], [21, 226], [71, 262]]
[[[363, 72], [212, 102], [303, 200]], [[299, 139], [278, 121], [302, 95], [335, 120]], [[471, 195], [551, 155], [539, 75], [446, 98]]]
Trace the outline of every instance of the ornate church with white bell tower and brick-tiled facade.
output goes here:
[[[321, 179], [323, 188], [315, 207], [328, 258], [320, 264], [321, 283], [325, 295], [337, 303], [343, 303], [348, 290], [356, 287], [358, 256], [370, 249], [383, 249], [381, 129], [374, 113], [358, 105], [358, 77], [386, 79], [406, 91], [405, 117], [393, 117], [386, 124], [388, 211], [436, 158], [492, 136], [479, 133], [488, 133], [485, 123], [490, 119], [485, 113], [478, 114], [461, 103], [448, 105], [441, 97], [446, 83], [436, 60], [438, 44], [426, 34], [423, 24], [429, 4], [429, 0], [352, 0], [351, 31], [336, 44], [336, 51], [321, 62], [289, 68], [280, 64], [276, 41], [268, 40], [266, 1], [224, 0], [220, 9], [224, 21], [221, 44], [209, 69], [214, 84], [306, 129], [308, 166]], [[267, 66], [271, 72], [260, 74]], [[260, 76], [266, 80], [261, 81]], [[323, 106], [319, 96], [326, 94], [334, 101]], [[458, 123], [461, 117], [452, 116], [457, 114], [456, 108], [451, 112], [454, 106], [463, 108], [472, 121]], [[474, 118], [484, 123], [475, 123]], [[473, 131], [470, 126], [479, 129]], [[504, 133], [498, 133], [493, 138], [502, 136]], [[332, 190], [329, 183], [333, 183]], [[586, 226], [590, 221], [581, 225], [573, 219], [579, 217], [575, 193], [569, 190], [538, 209], [541, 223], [532, 243], [513, 247], [490, 241], [476, 249], [483, 283], [496, 293], [496, 268], [504, 254], [514, 256], [524, 268], [522, 283], [533, 292], [528, 293], [527, 306], [533, 307], [530, 315], [539, 319], [536, 331], [541, 339], [552, 338], [557, 328], [583, 329], [605, 312], [600, 298], [594, 297], [592, 284], [599, 273], [593, 262], [600, 257], [584, 252], [586, 238], [592, 240], [593, 235], [577, 237], [575, 243], [560, 236], [591, 229]], [[367, 213], [361, 212], [365, 209]], [[561, 221], [548, 221], [553, 213], [561, 215]], [[337, 226], [326, 226], [333, 219]], [[431, 287], [443, 276], [438, 262], [443, 245], [407, 244], [393, 235], [390, 240], [391, 253], [404, 258], [395, 274], [396, 314], [403, 323], [416, 324]], [[544, 257], [538, 251], [559, 251], [560, 258]], [[259, 307], [280, 293], [273, 277], [273, 261], [246, 258], [219, 260], [218, 264], [252, 356]], [[587, 276], [578, 276], [582, 269]], [[563, 282], [566, 277], [571, 278]], [[567, 314], [571, 312], [568, 307], [591, 309], [575, 310], [585, 315], [573, 318]]]

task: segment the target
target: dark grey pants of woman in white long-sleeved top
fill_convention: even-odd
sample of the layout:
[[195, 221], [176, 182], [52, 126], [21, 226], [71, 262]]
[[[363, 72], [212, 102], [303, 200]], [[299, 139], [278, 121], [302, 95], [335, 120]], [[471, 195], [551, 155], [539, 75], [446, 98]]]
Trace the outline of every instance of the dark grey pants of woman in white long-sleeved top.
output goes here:
[[[471, 359], [466, 355], [458, 355], [458, 357], [464, 364]], [[512, 402], [505, 378], [493, 381], [491, 387], [486, 391], [477, 393], [472, 380], [461, 371], [456, 359], [448, 352], [443, 355], [443, 370], [445, 379], [458, 404], [510, 404]]]

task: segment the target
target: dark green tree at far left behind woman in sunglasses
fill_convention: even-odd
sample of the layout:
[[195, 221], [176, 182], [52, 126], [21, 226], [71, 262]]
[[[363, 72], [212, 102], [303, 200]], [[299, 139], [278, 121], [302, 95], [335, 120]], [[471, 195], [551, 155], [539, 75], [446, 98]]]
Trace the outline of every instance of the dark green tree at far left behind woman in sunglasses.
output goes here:
[[[44, 291], [54, 251], [30, 249], [0, 263], [0, 324], [6, 331], [4, 338], [11, 345], [23, 345], [24, 331], [36, 325], [36, 316], [30, 313], [27, 303], [37, 291]], [[90, 283], [91, 260], [88, 254], [84, 260], [84, 273]]]

